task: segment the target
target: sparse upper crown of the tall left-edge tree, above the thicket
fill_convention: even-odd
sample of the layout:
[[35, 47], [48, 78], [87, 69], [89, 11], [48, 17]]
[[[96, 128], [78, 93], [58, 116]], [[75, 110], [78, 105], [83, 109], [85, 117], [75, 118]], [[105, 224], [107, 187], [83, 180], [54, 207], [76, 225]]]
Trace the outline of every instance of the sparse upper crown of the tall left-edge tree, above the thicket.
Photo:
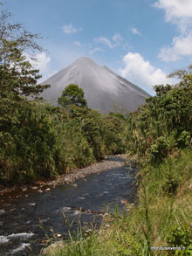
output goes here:
[[[37, 34], [26, 31], [22, 24], [11, 21], [11, 14], [0, 14], [0, 97], [18, 100], [19, 96], [42, 93], [48, 85], [38, 85], [39, 71], [33, 69], [24, 53], [42, 51]], [[34, 59], [34, 58], [31, 58]]]

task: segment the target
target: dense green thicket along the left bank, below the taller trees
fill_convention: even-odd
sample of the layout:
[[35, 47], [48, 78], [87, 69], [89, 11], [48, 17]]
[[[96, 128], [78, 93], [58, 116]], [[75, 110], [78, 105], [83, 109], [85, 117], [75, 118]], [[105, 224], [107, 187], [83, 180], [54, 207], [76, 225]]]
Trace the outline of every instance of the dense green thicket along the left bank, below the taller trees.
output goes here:
[[34, 181], [127, 149], [126, 122], [73, 105], [0, 98], [0, 182]]

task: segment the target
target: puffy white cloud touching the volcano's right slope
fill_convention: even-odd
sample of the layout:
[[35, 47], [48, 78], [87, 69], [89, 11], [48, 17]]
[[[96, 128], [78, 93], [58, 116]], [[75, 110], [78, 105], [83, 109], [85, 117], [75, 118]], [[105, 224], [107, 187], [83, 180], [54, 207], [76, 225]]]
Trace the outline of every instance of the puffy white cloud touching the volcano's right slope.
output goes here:
[[143, 59], [138, 52], [128, 52], [123, 61], [126, 66], [120, 70], [120, 75], [138, 86], [148, 87], [151, 92], [155, 85], [175, 83], [174, 80], [168, 79], [167, 74], [160, 68]]

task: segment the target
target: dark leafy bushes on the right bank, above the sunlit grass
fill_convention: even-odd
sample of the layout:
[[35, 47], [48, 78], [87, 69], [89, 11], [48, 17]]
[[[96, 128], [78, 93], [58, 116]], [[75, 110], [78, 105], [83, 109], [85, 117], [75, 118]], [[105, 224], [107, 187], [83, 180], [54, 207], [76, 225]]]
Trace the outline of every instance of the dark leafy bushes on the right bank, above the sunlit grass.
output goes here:
[[156, 95], [128, 118], [128, 149], [151, 163], [189, 148], [192, 136], [192, 66], [171, 76], [181, 81], [154, 86]]

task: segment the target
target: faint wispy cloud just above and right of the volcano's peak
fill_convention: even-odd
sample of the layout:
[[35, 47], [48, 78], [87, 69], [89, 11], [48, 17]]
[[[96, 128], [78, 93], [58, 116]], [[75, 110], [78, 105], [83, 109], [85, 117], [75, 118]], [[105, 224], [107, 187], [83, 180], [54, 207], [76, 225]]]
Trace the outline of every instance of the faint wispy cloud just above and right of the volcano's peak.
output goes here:
[[94, 43], [96, 44], [104, 44], [108, 46], [110, 49], [113, 49], [117, 46], [120, 46], [120, 42], [122, 41], [122, 37], [119, 33], [116, 33], [113, 35], [112, 40], [105, 38], [105, 37], [99, 37], [99, 38], [93, 38]]

